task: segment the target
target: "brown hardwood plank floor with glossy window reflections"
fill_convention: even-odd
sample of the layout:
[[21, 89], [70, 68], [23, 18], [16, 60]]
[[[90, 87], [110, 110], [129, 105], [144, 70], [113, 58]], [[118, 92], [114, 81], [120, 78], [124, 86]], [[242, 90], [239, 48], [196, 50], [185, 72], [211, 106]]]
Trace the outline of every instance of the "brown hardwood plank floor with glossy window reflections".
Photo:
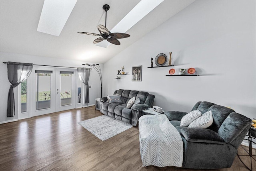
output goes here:
[[[138, 128], [104, 142], [77, 122], [101, 116], [94, 106], [56, 112], [0, 125], [1, 171], [188, 171], [176, 167], [142, 167]], [[245, 153], [239, 147], [239, 153]], [[255, 155], [256, 150], [253, 150]], [[245, 158], [248, 162], [249, 158]], [[256, 162], [254, 160], [256, 171]], [[196, 170], [200, 171], [200, 170]], [[247, 171], [236, 156], [231, 168]]]

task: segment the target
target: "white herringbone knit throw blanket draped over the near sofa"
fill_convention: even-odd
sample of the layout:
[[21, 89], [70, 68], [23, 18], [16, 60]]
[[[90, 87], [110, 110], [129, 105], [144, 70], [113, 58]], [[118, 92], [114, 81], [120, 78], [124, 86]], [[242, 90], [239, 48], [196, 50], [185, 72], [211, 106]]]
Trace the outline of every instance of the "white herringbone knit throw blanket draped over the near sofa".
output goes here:
[[139, 119], [142, 166], [182, 167], [183, 142], [166, 115], [144, 115]]

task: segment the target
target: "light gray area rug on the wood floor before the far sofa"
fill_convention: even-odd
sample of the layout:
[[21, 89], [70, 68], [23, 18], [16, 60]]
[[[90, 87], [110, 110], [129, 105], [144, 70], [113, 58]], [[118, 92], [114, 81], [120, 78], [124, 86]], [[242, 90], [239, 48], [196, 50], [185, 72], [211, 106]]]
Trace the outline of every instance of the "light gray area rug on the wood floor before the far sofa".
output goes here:
[[129, 128], [132, 128], [131, 124], [122, 122], [106, 115], [84, 120], [78, 122], [78, 124], [80, 124], [86, 130], [90, 131], [94, 136], [98, 137], [102, 141], [120, 134]]

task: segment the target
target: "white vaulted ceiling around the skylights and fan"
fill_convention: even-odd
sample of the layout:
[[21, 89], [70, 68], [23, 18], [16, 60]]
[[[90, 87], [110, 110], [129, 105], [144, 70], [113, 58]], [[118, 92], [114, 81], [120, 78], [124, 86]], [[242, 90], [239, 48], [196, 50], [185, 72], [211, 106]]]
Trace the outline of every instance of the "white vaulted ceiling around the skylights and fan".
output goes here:
[[120, 39], [121, 45], [99, 47], [92, 43], [97, 36], [77, 33], [99, 33], [98, 24], [105, 25], [105, 11], [102, 9], [104, 4], [110, 5], [107, 28], [111, 30], [139, 2], [140, 0], [78, 0], [60, 35], [55, 36], [37, 31], [43, 0], [1, 0], [0, 51], [105, 63], [194, 0], [164, 0], [126, 31], [131, 36]]

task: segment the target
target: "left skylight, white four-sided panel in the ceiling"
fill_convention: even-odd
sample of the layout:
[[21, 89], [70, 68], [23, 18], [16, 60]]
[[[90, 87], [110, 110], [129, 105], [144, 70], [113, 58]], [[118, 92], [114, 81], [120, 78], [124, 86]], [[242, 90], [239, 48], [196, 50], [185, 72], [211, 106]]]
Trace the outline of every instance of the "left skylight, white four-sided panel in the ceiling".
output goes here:
[[37, 31], [59, 36], [77, 0], [45, 0]]

